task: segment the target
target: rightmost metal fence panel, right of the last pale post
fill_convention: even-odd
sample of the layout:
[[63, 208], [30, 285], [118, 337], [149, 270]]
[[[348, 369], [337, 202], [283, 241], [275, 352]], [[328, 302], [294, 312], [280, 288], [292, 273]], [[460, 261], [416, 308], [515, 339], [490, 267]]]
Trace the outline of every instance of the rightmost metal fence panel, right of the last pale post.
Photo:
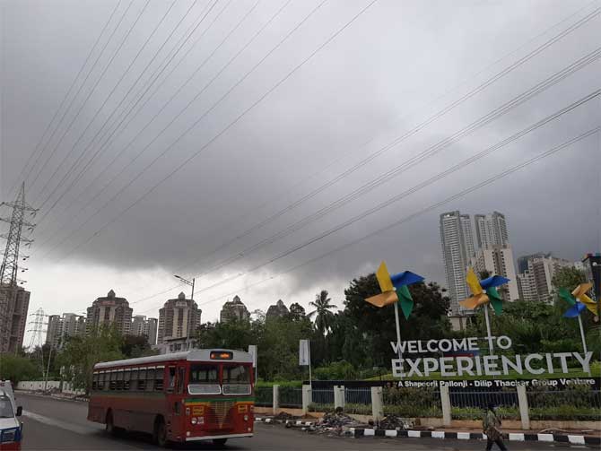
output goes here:
[[530, 420], [601, 421], [601, 391], [588, 386], [527, 391]]

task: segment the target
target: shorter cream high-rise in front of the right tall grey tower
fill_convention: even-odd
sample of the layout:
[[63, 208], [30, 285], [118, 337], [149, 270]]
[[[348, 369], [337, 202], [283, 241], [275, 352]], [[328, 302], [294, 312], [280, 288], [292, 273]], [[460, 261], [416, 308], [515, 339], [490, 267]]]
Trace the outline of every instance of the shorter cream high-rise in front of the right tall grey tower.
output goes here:
[[499, 289], [504, 300], [519, 299], [516, 267], [513, 264], [513, 251], [511, 247], [480, 247], [475, 251], [475, 256], [470, 259], [470, 266], [479, 276], [483, 273], [507, 277], [510, 282]]

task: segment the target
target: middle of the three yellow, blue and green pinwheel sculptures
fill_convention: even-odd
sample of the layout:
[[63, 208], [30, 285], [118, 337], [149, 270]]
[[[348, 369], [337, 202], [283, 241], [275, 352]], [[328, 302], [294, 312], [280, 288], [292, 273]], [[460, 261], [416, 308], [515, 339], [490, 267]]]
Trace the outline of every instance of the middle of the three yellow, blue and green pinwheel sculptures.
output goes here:
[[492, 351], [491, 320], [488, 317], [487, 304], [490, 303], [494, 312], [497, 315], [501, 315], [501, 312], [503, 311], [503, 299], [501, 298], [499, 291], [497, 291], [497, 287], [510, 282], [510, 280], [501, 275], [492, 275], [491, 277], [487, 277], [480, 281], [478, 280], [478, 276], [475, 275], [474, 269], [469, 268], [467, 270], [466, 282], [470, 291], [472, 291], [472, 297], [460, 300], [459, 304], [472, 310], [483, 306], [486, 332], [488, 333], [488, 342]]

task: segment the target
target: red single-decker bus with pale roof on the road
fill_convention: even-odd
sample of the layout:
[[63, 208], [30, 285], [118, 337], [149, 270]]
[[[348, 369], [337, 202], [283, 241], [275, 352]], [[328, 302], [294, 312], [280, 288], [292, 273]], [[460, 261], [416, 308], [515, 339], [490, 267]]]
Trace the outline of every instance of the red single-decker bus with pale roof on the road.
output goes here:
[[109, 433], [135, 430], [168, 442], [252, 437], [255, 403], [248, 352], [195, 350], [94, 366], [88, 420]]

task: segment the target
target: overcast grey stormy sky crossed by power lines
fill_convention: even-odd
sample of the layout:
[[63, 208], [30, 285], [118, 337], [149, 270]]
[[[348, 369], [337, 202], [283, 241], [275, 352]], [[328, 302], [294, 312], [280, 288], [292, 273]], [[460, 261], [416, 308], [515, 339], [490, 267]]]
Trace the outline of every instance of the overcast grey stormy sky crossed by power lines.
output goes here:
[[[119, 6], [116, 17], [125, 11], [127, 4]], [[111, 108], [118, 105], [128, 87], [135, 82], [137, 74], [140, 74], [153, 52], [160, 48], [162, 40], [191, 4], [178, 2], [175, 5], [162, 28], [140, 55], [139, 61], [132, 66], [131, 74], [119, 85], [106, 108], [100, 110], [99, 117], [92, 123], [82, 143], [91, 140], [102, 122], [109, 117]], [[177, 29], [173, 42], [210, 4], [212, 2], [198, 2], [195, 5]], [[152, 160], [165, 151], [179, 134], [203, 117], [240, 80], [242, 74], [246, 74], [302, 17], [318, 5], [295, 1], [287, 5], [253, 45], [205, 89], [207, 82], [283, 2], [262, 2], [253, 9], [254, 4], [216, 4], [207, 16], [207, 27], [215, 19], [211, 28], [161, 85], [156, 96], [51, 212], [48, 212], [48, 207], [61, 191], [58, 190], [57, 195], [45, 205], [48, 217], [36, 230], [37, 247], [31, 259], [30, 279], [34, 284], [36, 277], [40, 277], [37, 274], [43, 272], [44, 268], [61, 268], [61, 265], [79, 267], [82, 271], [83, 268], [98, 268], [99, 274], [109, 269], [128, 274], [138, 273], [142, 274], [141, 280], [144, 274], [153, 271], [169, 274], [177, 270], [193, 276], [217, 267], [203, 277], [205, 287], [218, 283], [222, 278], [237, 277], [257, 265], [269, 263], [286, 249], [296, 247], [382, 200], [415, 186], [423, 179], [500, 142], [598, 88], [601, 66], [597, 60], [473, 134], [445, 147], [399, 177], [361, 195], [352, 203], [282, 239], [249, 251], [257, 243], [440, 143], [457, 130], [593, 51], [599, 45], [597, 30], [601, 25], [601, 19], [597, 16], [419, 133], [371, 160], [360, 170], [275, 221], [245, 234], [256, 224], [344, 173], [344, 170], [353, 167], [371, 152], [378, 151], [425, 118], [461, 98], [492, 74], [499, 73], [597, 7], [593, 4], [579, 10], [586, 6], [586, 2], [377, 2], [184, 169], [177, 171], [151, 195], [129, 208], [165, 175], [177, 169], [181, 161], [198, 152], [241, 111], [282, 80], [295, 65], [351, 20], [367, 3], [323, 4], [292, 34], [291, 39], [231, 91], [198, 126], [151, 165]], [[3, 198], [9, 195], [9, 188], [17, 182], [22, 166], [115, 5], [113, 2], [70, 1], [3, 4], [0, 183]], [[28, 192], [30, 200], [35, 202], [44, 199], [48, 190], [56, 186], [80, 154], [78, 152], [83, 152], [85, 146], [78, 144], [76, 152], [65, 161], [64, 167], [59, 167], [60, 161], [76, 143], [79, 134], [168, 7], [162, 3], [150, 4], [114, 64], [109, 66], [106, 76], [100, 80], [97, 91], [82, 109], [81, 117], [74, 122], [73, 130], [66, 134], [65, 142], [48, 162], [48, 168], [40, 172], [38, 181], [28, 179], [28, 185], [32, 186]], [[131, 25], [143, 8], [144, 2], [136, 0], [124, 23]], [[65, 15], [65, 10], [69, 14]], [[248, 18], [244, 19], [248, 12]], [[549, 30], [553, 24], [566, 18], [565, 22]], [[134, 145], [126, 149], [126, 144], [240, 21], [240, 28], [207, 60], [202, 70]], [[125, 33], [125, 30], [124, 25], [120, 32]], [[544, 34], [539, 36], [542, 32]], [[165, 55], [170, 46], [164, 49]], [[116, 47], [116, 43], [109, 45], [109, 48]], [[108, 57], [100, 61], [106, 63]], [[151, 65], [149, 72], [153, 67]], [[100, 74], [100, 69], [94, 74]], [[165, 133], [160, 134], [188, 100], [203, 89], [203, 95]], [[80, 103], [75, 101], [74, 105], [79, 106]], [[222, 296], [239, 287], [243, 289], [245, 284], [268, 279], [270, 275], [282, 273], [342, 247], [370, 231], [436, 204], [512, 164], [584, 133], [600, 122], [598, 100], [588, 102], [475, 165], [441, 179], [327, 239], [258, 268], [249, 273], [248, 278], [237, 277], [220, 285], [219, 289], [215, 288], [214, 296]], [[155, 136], [157, 139], [152, 142]], [[106, 192], [91, 202], [92, 195], [98, 193], [146, 145], [149, 145], [147, 151], [112, 182]], [[52, 146], [47, 152], [51, 149]], [[99, 176], [109, 161], [124, 149], [126, 152], [119, 156], [115, 164]], [[277, 279], [283, 281], [281, 284], [273, 282], [274, 289], [257, 285], [256, 290], [268, 293], [266, 298], [278, 296], [278, 292], [293, 297], [305, 291], [310, 294], [314, 287], [331, 284], [340, 296], [341, 287], [346, 282], [372, 270], [381, 258], [386, 258], [389, 265], [398, 270], [412, 268], [429, 279], [444, 282], [438, 217], [440, 212], [455, 209], [471, 214], [493, 210], [504, 212], [508, 218], [515, 256], [535, 251], [553, 251], [558, 256], [577, 259], [583, 252], [599, 246], [598, 199], [593, 193], [600, 187], [600, 153], [598, 137], [588, 138], [474, 194], [441, 205], [395, 229], [286, 273]], [[148, 165], [151, 166], [141, 173]], [[56, 168], [56, 182], [50, 181], [48, 190], [40, 192]], [[36, 172], [34, 170], [33, 174]], [[83, 188], [96, 176], [99, 176], [98, 180], [83, 193]], [[106, 208], [98, 211], [134, 178], [131, 186], [126, 187]], [[40, 214], [47, 212], [42, 209]], [[565, 221], [558, 221], [562, 217], [579, 219], [566, 227]], [[83, 221], [88, 222], [73, 233]], [[104, 228], [109, 222], [112, 223]], [[98, 236], [91, 239], [98, 230]], [[232, 241], [239, 236], [243, 238]], [[243, 256], [240, 256], [241, 253]], [[223, 262], [230, 263], [222, 265]], [[59, 269], [57, 271], [60, 272]], [[41, 285], [47, 282], [39, 279], [39, 291], [44, 290]], [[107, 291], [100, 281], [93, 282], [93, 285], [90, 291], [94, 295], [96, 291]], [[164, 282], [165, 288], [169, 286], [169, 280]], [[135, 291], [135, 296], [141, 298], [156, 291], [154, 285], [143, 286], [141, 292]], [[91, 294], [86, 296], [91, 297]], [[210, 299], [213, 291], [206, 290], [203, 296]], [[161, 297], [155, 300], [161, 302]], [[152, 303], [144, 305], [152, 307]]]

